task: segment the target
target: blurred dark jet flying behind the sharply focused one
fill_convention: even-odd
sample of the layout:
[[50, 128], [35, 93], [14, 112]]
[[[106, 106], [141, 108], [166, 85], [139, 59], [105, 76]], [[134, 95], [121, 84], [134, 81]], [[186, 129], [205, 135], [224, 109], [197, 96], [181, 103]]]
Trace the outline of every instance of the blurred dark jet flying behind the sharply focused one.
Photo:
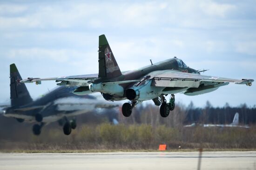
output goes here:
[[[91, 95], [77, 96], [72, 92], [77, 88], [61, 86], [33, 101], [25, 84], [20, 83], [20, 73], [15, 64], [10, 65], [11, 106], [3, 108], [5, 117], [16, 118], [18, 122], [34, 123], [33, 133], [40, 135], [41, 128], [58, 121], [65, 135], [76, 128], [77, 115], [97, 109], [113, 108], [117, 105], [104, 104]], [[79, 99], [77, 99], [79, 98]], [[79, 102], [78, 102], [79, 101]], [[72, 117], [68, 120], [68, 117]]]

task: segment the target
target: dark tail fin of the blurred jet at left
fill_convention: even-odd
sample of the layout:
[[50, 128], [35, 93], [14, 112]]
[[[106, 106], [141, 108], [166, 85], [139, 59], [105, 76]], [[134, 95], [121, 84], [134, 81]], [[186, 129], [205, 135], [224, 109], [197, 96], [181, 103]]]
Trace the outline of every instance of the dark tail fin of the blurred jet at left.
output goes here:
[[10, 80], [12, 107], [16, 108], [31, 103], [33, 100], [27, 91], [26, 85], [20, 83], [22, 78], [15, 64], [10, 65]]

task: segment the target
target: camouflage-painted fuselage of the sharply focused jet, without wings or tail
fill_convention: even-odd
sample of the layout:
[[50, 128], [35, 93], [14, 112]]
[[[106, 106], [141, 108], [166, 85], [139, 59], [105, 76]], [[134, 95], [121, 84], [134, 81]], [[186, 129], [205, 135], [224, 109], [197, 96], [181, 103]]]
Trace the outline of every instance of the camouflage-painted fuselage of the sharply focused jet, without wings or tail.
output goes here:
[[[115, 66], [115, 65], [113, 65]], [[124, 84], [102, 84], [101, 82], [104, 81], [104, 78], [98, 78], [94, 80], [94, 83], [89, 85], [89, 89], [91, 92], [101, 92], [103, 93], [103, 97], [107, 100], [124, 100], [127, 99], [128, 89], [132, 88], [137, 92], [137, 97], [134, 100], [144, 101], [150, 100], [152, 98], [159, 97], [162, 93], [170, 94], [176, 92], [183, 92], [187, 88], [168, 88], [168, 91], [162, 92], [165, 88], [164, 87], [154, 87], [151, 86], [152, 79], [149, 79], [149, 73], [155, 71], [162, 71], [162, 70], [177, 70], [181, 72], [189, 72], [189, 73], [198, 73], [196, 70], [186, 67], [179, 67], [176, 58], [167, 59], [162, 62], [155, 63], [153, 65], [148, 65], [142, 67], [137, 70], [132, 70], [128, 72], [123, 72], [120, 76], [112, 79], [108, 79], [109, 82], [119, 82], [119, 81], [126, 81], [126, 80], [135, 80], [140, 79], [140, 82], [133, 82], [133, 83], [124, 83]], [[199, 73], [198, 73], [199, 74]]]

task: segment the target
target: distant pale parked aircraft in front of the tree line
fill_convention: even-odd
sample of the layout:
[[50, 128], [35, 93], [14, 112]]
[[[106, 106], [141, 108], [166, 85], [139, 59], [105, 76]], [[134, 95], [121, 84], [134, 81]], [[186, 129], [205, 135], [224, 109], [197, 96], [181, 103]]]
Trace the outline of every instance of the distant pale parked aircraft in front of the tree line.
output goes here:
[[195, 126], [202, 126], [202, 127], [237, 127], [237, 128], [249, 128], [248, 125], [239, 125], [239, 113], [236, 112], [233, 122], [231, 124], [189, 124], [185, 125], [184, 127], [195, 127]]

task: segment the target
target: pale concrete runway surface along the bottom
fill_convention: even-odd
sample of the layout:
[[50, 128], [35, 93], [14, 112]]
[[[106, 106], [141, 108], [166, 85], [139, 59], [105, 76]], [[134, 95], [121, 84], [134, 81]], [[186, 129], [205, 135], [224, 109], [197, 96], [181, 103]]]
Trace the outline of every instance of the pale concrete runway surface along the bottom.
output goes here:
[[[196, 170], [199, 152], [0, 153], [0, 170]], [[256, 151], [202, 152], [201, 170], [256, 170]]]

